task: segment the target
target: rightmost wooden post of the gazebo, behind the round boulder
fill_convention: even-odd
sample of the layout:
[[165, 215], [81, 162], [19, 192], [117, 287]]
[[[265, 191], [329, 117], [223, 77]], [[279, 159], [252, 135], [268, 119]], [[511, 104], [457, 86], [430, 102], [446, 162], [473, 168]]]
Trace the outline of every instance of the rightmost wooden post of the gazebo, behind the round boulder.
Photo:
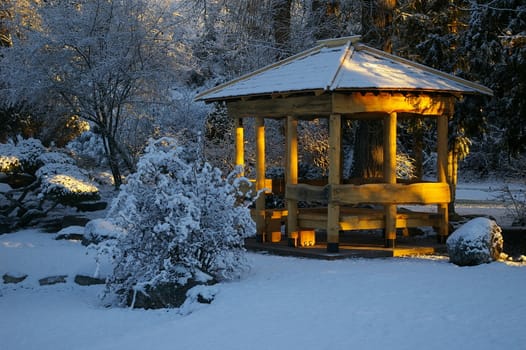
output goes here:
[[[437, 119], [437, 181], [447, 183], [448, 163], [448, 116], [439, 115]], [[448, 235], [449, 213], [447, 204], [438, 205], [440, 226], [438, 228], [438, 242], [445, 243]]]

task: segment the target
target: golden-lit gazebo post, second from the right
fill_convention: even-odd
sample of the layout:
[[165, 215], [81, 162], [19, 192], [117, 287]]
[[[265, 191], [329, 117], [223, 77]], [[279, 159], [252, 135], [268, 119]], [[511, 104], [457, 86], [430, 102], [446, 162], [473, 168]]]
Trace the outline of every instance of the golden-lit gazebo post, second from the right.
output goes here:
[[[384, 117], [384, 182], [389, 184], [396, 183], [396, 126], [396, 112]], [[385, 246], [394, 248], [396, 242], [396, 205], [385, 205], [384, 214]]]

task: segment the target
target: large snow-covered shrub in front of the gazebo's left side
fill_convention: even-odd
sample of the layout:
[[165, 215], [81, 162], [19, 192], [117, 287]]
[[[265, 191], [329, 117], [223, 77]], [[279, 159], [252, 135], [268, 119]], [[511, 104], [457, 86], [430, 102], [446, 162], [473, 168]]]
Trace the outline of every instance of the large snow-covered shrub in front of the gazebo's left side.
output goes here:
[[244, 238], [255, 234], [248, 180], [224, 178], [186, 152], [173, 138], [150, 141], [108, 212], [126, 232], [116, 240], [107, 285], [120, 305], [148, 295], [155, 302], [141, 307], [180, 306], [180, 290], [248, 267]]

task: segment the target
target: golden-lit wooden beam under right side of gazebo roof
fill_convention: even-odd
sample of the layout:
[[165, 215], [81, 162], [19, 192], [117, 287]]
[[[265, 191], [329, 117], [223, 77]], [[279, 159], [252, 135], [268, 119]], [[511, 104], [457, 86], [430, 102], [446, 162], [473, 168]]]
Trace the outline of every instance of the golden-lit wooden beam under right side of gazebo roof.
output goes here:
[[404, 112], [441, 115], [449, 113], [454, 102], [455, 99], [452, 96], [404, 95], [391, 92], [335, 93], [332, 95], [332, 111], [342, 114]]

